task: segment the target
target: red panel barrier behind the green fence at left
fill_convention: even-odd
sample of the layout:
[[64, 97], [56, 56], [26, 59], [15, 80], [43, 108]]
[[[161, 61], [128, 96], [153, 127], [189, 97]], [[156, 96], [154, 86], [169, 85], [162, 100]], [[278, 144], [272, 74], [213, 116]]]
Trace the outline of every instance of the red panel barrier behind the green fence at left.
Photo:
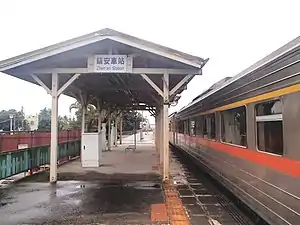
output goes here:
[[[80, 130], [60, 131], [58, 142], [74, 141], [81, 136]], [[34, 146], [50, 145], [50, 132], [32, 131], [28, 133], [0, 133], [0, 152], [15, 151], [19, 148], [30, 148]]]

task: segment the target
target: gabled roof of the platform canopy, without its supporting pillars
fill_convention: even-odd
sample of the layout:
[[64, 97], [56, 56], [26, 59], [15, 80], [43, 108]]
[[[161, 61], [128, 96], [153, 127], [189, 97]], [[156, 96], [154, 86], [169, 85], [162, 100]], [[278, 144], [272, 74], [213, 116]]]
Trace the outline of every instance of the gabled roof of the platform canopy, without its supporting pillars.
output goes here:
[[207, 59], [103, 29], [0, 62], [0, 72], [41, 85], [51, 94], [58, 74], [58, 94], [109, 107], [156, 107], [169, 74], [169, 102], [176, 100]]

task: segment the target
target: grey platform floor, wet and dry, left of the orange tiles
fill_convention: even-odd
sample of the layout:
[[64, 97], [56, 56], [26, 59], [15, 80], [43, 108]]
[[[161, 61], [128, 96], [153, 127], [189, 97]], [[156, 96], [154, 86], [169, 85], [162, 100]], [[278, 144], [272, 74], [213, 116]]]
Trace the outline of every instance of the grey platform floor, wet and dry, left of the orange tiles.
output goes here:
[[158, 158], [152, 135], [124, 151], [133, 139], [104, 152], [100, 167], [59, 166], [56, 185], [45, 171], [0, 188], [0, 225], [151, 224], [153, 204], [164, 203]]

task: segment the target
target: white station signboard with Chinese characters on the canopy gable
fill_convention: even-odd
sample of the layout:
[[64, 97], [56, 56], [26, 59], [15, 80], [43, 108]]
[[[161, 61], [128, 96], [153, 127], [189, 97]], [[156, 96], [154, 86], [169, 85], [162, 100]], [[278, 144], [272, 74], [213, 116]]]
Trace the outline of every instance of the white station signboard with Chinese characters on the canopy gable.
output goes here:
[[88, 67], [96, 73], [130, 73], [132, 58], [127, 55], [95, 55], [89, 58]]

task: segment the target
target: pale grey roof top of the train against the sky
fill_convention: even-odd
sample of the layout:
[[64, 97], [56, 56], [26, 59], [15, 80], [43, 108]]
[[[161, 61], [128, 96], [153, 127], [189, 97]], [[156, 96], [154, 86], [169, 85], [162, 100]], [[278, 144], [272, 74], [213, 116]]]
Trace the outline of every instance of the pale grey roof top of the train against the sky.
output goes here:
[[242, 72], [238, 73], [236, 76], [234, 76], [234, 77], [225, 77], [224, 79], [216, 82], [210, 88], [208, 88], [207, 90], [202, 92], [200, 95], [198, 95], [196, 98], [194, 98], [192, 102], [190, 102], [188, 105], [186, 105], [185, 107], [180, 109], [177, 112], [177, 114], [180, 115], [181, 113], [185, 113], [185, 111], [187, 109], [189, 109], [192, 106], [195, 106], [197, 103], [200, 103], [201, 101], [208, 98], [212, 94], [214, 94], [216, 92], [219, 92], [223, 88], [233, 84], [234, 82], [238, 81], [242, 77], [245, 77], [245, 76], [255, 72], [256, 70], [259, 70], [260, 68], [262, 68], [262, 67], [264, 67], [268, 64], [271, 64], [272, 62], [274, 62], [278, 58], [282, 57], [283, 55], [286, 55], [286, 54], [289, 54], [289, 53], [293, 52], [295, 49], [298, 49], [299, 47], [300, 47], [300, 36], [293, 39], [292, 41], [285, 44], [284, 46], [277, 49], [276, 51], [272, 52], [271, 54], [267, 55], [266, 57], [259, 60], [258, 62], [254, 63], [253, 65], [251, 65], [247, 69], [245, 69]]

